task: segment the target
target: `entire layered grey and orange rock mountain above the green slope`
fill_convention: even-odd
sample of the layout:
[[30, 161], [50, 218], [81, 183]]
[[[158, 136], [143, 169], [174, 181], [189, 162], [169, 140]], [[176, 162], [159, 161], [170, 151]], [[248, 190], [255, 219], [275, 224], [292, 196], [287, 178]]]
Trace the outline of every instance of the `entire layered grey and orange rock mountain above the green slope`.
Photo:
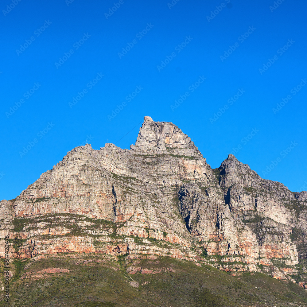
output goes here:
[[305, 268], [306, 214], [307, 192], [264, 180], [233, 155], [211, 169], [177, 126], [145, 117], [130, 150], [76, 147], [2, 200], [0, 233], [12, 257], [165, 255], [290, 278]]

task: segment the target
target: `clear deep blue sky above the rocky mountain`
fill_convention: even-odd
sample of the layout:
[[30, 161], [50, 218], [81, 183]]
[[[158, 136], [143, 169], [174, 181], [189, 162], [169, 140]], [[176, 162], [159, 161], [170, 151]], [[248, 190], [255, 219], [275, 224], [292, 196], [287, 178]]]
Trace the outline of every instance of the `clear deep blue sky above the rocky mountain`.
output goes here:
[[0, 199], [86, 140], [129, 148], [144, 115], [212, 168], [232, 152], [292, 191], [307, 182], [306, 1], [168, 3], [1, 2]]

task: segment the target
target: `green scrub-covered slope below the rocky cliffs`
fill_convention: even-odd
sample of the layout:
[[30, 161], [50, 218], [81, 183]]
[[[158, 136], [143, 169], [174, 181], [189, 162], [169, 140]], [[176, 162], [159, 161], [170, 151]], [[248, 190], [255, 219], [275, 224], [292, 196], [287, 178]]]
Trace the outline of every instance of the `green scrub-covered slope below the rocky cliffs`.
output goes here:
[[[49, 268], [69, 272], [44, 273]], [[14, 261], [13, 274], [10, 305], [16, 307], [307, 306], [307, 293], [292, 282], [261, 273], [234, 277], [168, 257], [129, 260], [67, 253]]]

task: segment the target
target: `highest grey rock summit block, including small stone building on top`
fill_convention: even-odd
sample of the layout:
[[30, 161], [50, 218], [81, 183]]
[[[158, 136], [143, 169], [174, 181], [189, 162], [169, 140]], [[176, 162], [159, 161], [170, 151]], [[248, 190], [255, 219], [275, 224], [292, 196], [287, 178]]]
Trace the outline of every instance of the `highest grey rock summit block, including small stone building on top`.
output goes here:
[[175, 153], [185, 156], [202, 156], [198, 148], [181, 129], [172, 122], [154, 122], [150, 116], [144, 116], [144, 122], [138, 133], [132, 150], [145, 151], [148, 154]]

